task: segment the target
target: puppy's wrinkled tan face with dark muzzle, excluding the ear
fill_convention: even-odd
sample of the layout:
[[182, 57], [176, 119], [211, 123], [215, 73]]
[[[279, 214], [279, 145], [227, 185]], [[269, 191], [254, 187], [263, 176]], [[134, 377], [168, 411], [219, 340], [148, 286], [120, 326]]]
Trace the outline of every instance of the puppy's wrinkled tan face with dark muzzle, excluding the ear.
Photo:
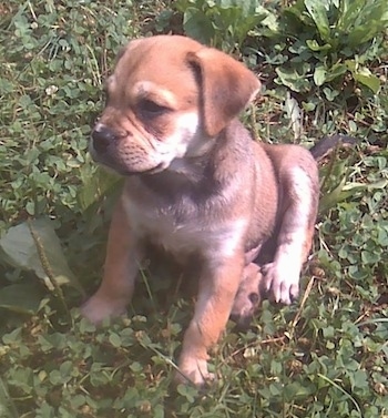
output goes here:
[[106, 106], [92, 132], [95, 161], [129, 175], [161, 172], [175, 159], [203, 153], [198, 84], [186, 59], [200, 48], [169, 37], [126, 47], [106, 81]]

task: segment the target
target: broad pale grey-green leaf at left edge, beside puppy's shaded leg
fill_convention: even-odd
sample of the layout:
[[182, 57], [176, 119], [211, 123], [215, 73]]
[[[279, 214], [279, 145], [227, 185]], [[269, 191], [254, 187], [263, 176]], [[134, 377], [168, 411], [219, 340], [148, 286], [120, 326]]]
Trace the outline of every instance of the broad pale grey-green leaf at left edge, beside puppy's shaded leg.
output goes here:
[[49, 288], [54, 281], [55, 285], [69, 284], [83, 294], [80, 283], [68, 265], [50, 221], [41, 218], [31, 221], [30, 224], [24, 222], [11, 227], [0, 239], [0, 248], [11, 265], [33, 271]]

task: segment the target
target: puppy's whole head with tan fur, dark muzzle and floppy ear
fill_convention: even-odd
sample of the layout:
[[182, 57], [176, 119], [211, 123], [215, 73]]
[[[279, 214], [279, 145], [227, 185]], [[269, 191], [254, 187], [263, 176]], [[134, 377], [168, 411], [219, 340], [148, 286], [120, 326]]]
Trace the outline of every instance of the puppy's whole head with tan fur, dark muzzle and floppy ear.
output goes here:
[[259, 85], [242, 63], [192, 39], [134, 40], [106, 81], [91, 154], [124, 175], [156, 173], [175, 159], [203, 155]]

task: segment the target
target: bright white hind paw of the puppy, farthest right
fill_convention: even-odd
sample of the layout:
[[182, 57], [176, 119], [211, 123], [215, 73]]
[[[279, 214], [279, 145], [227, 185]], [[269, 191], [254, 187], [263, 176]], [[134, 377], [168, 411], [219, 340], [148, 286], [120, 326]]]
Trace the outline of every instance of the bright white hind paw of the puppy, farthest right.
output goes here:
[[279, 263], [262, 266], [263, 287], [276, 303], [290, 305], [299, 294], [299, 269], [283, 268]]

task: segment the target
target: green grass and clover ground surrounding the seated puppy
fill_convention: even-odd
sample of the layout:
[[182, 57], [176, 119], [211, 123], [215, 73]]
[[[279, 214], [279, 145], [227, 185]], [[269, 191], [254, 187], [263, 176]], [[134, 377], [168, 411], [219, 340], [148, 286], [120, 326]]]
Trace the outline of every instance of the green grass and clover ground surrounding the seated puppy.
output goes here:
[[[0, 7], [0, 417], [388, 417], [386, 2], [231, 4]], [[169, 31], [259, 73], [244, 120], [262, 141], [357, 137], [320, 164], [300, 300], [231, 323], [206, 391], [172, 385], [193, 300], [169, 268], [143, 272], [124, 318], [95, 328], [78, 310], [120, 191], [86, 153], [101, 85], [127, 38]]]

